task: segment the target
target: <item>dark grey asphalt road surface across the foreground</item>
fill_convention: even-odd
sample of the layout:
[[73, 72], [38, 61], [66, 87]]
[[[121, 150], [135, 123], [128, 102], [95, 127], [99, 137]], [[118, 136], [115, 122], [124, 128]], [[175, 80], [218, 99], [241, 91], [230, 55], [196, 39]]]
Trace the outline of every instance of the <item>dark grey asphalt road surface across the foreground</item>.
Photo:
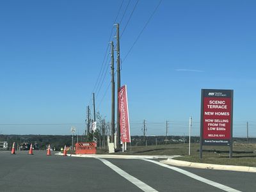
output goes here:
[[[181, 169], [237, 191], [256, 191], [256, 173]], [[0, 191], [223, 191], [193, 177], [141, 159], [0, 152]]]

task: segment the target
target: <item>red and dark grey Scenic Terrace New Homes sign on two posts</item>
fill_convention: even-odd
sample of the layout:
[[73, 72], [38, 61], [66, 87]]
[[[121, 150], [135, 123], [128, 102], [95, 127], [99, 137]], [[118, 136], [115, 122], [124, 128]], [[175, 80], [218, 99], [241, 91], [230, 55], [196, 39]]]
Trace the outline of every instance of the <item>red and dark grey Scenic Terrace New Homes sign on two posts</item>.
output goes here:
[[230, 147], [232, 157], [233, 90], [201, 92], [200, 159], [203, 145]]

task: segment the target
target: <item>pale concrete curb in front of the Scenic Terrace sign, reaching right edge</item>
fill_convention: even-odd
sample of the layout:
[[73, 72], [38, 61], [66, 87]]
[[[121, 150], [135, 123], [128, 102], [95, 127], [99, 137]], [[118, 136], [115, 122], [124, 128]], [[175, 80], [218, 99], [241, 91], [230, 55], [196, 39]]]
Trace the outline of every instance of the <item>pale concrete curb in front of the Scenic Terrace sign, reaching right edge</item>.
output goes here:
[[222, 165], [222, 164], [206, 164], [206, 163], [192, 163], [188, 161], [179, 161], [172, 158], [160, 161], [164, 164], [172, 164], [174, 166], [185, 166], [192, 168], [212, 169], [212, 170], [225, 170], [234, 172], [253, 172], [256, 173], [256, 167], [252, 166], [234, 166], [234, 165]]

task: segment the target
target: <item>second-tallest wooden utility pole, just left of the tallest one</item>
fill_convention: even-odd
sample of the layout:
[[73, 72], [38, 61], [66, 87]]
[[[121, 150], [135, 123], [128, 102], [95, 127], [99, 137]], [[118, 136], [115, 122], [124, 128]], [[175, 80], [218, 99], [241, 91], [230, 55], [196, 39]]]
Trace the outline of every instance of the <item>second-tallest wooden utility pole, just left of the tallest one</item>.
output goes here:
[[111, 76], [112, 76], [112, 101], [111, 101], [111, 142], [115, 137], [115, 72], [114, 72], [114, 43], [111, 42]]

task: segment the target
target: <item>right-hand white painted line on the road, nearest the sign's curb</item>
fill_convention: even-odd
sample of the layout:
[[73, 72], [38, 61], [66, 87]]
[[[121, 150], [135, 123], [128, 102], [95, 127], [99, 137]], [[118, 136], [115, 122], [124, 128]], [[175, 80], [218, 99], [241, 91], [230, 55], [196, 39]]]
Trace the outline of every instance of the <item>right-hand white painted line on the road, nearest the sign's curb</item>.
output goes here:
[[164, 163], [160, 163], [160, 162], [158, 162], [158, 161], [153, 161], [153, 160], [150, 160], [150, 159], [143, 159], [143, 160], [144, 160], [144, 161], [149, 161], [149, 162], [151, 162], [151, 163], [156, 163], [156, 164], [158, 164], [158, 165], [160, 165], [160, 166], [164, 166], [165, 168], [169, 168], [169, 169], [174, 170], [174, 171], [176, 171], [176, 172], [182, 173], [182, 174], [184, 174], [184, 175], [187, 175], [188, 177], [191, 177], [191, 178], [193, 178], [193, 179], [199, 180], [199, 181], [201, 181], [201, 182], [204, 182], [204, 183], [206, 183], [206, 184], [209, 184], [209, 185], [211, 185], [211, 186], [214, 186], [215, 188], [219, 188], [219, 189], [221, 189], [221, 190], [223, 190], [223, 191], [228, 191], [228, 192], [241, 192], [241, 191], [238, 191], [238, 190], [236, 190], [236, 189], [233, 189], [233, 188], [230, 188], [230, 187], [228, 187], [228, 186], [225, 186], [225, 185], [223, 185], [223, 184], [220, 184], [220, 183], [218, 183], [218, 182], [214, 182], [214, 181], [212, 181], [212, 180], [205, 179], [204, 177], [200, 177], [200, 176], [198, 176], [198, 175], [196, 175], [196, 174], [194, 174], [194, 173], [187, 172], [187, 171], [185, 171], [185, 170], [182, 170], [182, 169], [177, 168], [177, 167], [174, 167], [174, 166], [170, 166], [170, 165], [167, 165], [167, 164], [164, 164]]

